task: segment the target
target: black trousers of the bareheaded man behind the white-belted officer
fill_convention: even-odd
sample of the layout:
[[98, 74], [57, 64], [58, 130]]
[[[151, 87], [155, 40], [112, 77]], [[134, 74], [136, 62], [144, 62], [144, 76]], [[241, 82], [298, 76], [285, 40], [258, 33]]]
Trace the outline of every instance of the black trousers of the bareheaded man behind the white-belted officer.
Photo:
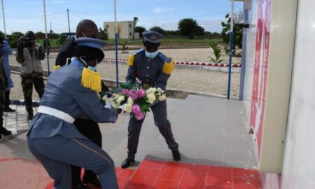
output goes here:
[[[97, 146], [102, 148], [102, 134], [99, 130], [99, 124], [92, 120], [76, 119], [74, 125], [78, 131], [83, 134], [87, 139], [90, 139], [92, 142], [97, 144]], [[81, 183], [80, 179], [81, 167], [71, 165], [71, 179], [72, 185], [78, 185]], [[84, 172], [84, 177], [87, 179], [96, 179], [97, 175], [90, 170]]]

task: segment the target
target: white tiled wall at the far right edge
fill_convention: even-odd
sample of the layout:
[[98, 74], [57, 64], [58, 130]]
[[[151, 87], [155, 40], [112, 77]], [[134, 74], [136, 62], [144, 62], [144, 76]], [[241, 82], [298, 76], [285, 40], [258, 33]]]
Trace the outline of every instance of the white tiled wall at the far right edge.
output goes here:
[[281, 188], [315, 188], [315, 1], [299, 0]]

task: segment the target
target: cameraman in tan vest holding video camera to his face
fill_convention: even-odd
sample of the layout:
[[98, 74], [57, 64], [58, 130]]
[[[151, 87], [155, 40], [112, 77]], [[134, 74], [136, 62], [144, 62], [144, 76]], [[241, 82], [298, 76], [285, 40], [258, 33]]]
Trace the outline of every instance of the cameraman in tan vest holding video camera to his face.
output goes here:
[[33, 83], [39, 98], [43, 96], [45, 84], [43, 82], [43, 67], [41, 60], [45, 58], [45, 49], [41, 45], [35, 44], [35, 34], [33, 31], [27, 31], [24, 37], [18, 41], [18, 52], [16, 60], [21, 65], [22, 90], [27, 110], [27, 119], [31, 120], [34, 116], [31, 94], [33, 92]]

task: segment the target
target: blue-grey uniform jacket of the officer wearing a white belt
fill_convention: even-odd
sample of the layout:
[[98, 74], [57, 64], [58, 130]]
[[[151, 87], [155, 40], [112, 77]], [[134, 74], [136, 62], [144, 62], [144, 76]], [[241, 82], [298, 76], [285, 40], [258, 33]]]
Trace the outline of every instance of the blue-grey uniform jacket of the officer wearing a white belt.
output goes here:
[[[45, 86], [41, 106], [63, 111], [74, 119], [85, 115], [97, 123], [115, 123], [118, 118], [117, 111], [104, 108], [97, 92], [81, 85], [83, 67], [81, 62], [74, 60], [69, 66], [54, 71]], [[27, 136], [36, 139], [56, 134], [66, 138], [86, 139], [73, 124], [43, 113], [37, 113], [31, 120]]]

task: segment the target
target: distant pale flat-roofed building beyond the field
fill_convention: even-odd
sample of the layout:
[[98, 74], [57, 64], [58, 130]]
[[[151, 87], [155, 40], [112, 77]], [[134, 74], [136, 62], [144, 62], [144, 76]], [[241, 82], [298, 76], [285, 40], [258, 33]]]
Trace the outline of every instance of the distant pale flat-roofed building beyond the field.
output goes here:
[[[107, 29], [107, 34], [109, 34], [109, 38], [115, 38], [115, 22], [104, 22], [104, 29]], [[117, 33], [118, 38], [139, 38], [139, 33], [134, 33], [134, 21], [117, 22]]]

